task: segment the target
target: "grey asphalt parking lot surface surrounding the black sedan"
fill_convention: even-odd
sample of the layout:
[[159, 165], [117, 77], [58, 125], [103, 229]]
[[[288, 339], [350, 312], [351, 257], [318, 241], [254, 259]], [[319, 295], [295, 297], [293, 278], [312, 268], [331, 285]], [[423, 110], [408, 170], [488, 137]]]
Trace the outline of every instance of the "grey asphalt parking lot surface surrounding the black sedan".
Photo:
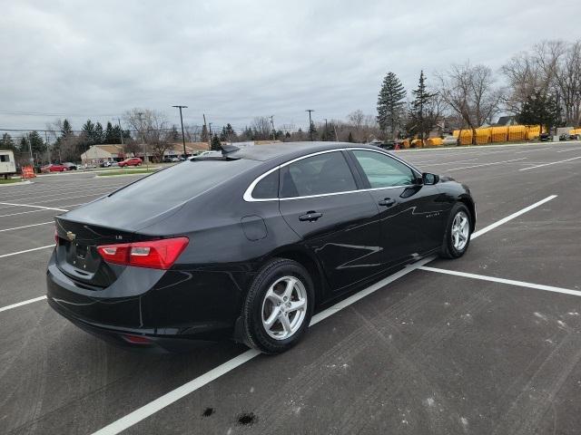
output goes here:
[[0, 432], [579, 433], [581, 143], [398, 155], [469, 185], [467, 255], [351, 295], [279, 356], [80, 331], [43, 299], [53, 217], [140, 176], [1, 187]]

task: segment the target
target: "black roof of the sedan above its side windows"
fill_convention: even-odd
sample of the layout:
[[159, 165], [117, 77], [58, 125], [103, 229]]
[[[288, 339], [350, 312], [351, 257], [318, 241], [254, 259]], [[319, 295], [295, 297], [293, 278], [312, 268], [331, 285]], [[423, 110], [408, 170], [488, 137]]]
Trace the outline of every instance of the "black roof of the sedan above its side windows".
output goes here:
[[[232, 145], [236, 146], [235, 143], [232, 143]], [[378, 147], [363, 143], [321, 141], [282, 142], [270, 145], [251, 145], [240, 150], [232, 151], [228, 156], [235, 159], [266, 161], [277, 158], [294, 159], [313, 152], [344, 148], [369, 148], [370, 150], [378, 150]]]

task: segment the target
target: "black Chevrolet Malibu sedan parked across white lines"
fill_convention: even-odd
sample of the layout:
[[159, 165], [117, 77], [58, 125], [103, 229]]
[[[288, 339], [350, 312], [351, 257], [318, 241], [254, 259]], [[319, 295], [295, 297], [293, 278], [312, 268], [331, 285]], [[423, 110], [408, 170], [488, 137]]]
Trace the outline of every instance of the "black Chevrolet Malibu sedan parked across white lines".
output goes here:
[[320, 304], [462, 256], [476, 208], [466, 186], [388, 151], [307, 142], [192, 158], [55, 220], [48, 302], [85, 331], [280, 353]]

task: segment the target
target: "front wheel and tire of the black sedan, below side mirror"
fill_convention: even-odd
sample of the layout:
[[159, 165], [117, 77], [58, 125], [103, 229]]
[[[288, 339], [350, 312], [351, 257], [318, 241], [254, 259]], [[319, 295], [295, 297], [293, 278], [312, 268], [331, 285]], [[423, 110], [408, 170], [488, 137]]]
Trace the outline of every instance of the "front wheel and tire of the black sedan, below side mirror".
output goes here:
[[470, 245], [472, 218], [468, 208], [457, 202], [450, 211], [444, 241], [439, 252], [443, 258], [459, 258]]

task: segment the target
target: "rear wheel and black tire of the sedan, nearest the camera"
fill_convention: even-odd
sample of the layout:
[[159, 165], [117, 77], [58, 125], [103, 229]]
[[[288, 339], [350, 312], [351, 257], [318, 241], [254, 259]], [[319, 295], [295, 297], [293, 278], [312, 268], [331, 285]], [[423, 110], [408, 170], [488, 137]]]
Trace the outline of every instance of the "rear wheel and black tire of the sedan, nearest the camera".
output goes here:
[[282, 353], [310, 324], [314, 290], [299, 263], [275, 258], [261, 268], [242, 306], [242, 339], [262, 353]]

